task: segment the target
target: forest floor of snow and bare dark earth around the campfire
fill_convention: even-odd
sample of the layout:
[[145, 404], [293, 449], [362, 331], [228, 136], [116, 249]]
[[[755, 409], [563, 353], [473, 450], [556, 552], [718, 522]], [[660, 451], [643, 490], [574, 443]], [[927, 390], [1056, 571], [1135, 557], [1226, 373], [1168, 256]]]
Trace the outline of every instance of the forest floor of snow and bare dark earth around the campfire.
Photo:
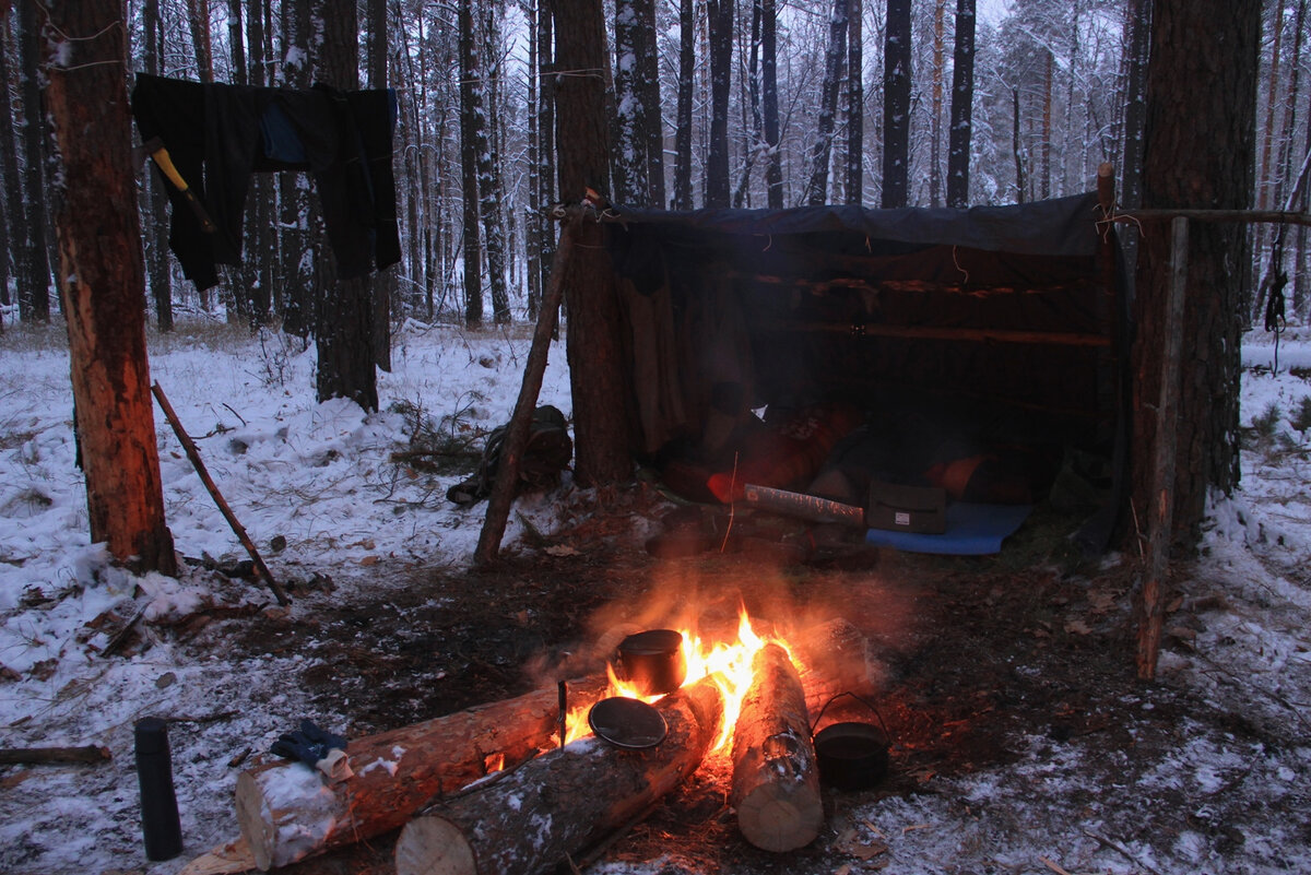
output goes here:
[[[211, 473], [291, 588], [290, 610], [219, 570], [241, 550], [163, 422], [169, 523], [194, 565], [177, 582], [109, 566], [87, 544], [66, 354], [52, 334], [0, 337], [0, 744], [113, 753], [0, 768], [7, 872], [172, 875], [237, 834], [236, 774], [302, 717], [357, 737], [503, 698], [585, 658], [606, 627], [679, 601], [709, 624], [741, 601], [762, 620], [860, 626], [891, 769], [874, 789], [826, 791], [821, 837], [771, 855], [737, 834], [717, 757], [590, 872], [1311, 870], [1311, 470], [1291, 423], [1311, 396], [1306, 339], [1285, 338], [1278, 373], [1266, 338], [1248, 339], [1243, 489], [1176, 563], [1159, 677], [1143, 684], [1137, 557], [1083, 559], [1066, 538], [1076, 520], [1044, 507], [995, 557], [830, 532], [800, 562], [671, 561], [644, 549], [671, 508], [652, 485], [566, 481], [522, 499], [503, 562], [469, 571], [485, 504], [463, 511], [444, 491], [513, 405], [523, 333], [406, 326], [374, 417], [307, 400], [312, 350], [218, 334], [153, 338], [152, 375], [207, 435]], [[552, 358], [543, 402], [568, 411], [562, 348]], [[1253, 424], [1272, 405], [1273, 422]], [[416, 410], [461, 438], [444, 468], [395, 461], [421, 431]], [[105, 625], [135, 605], [148, 610], [138, 634], [100, 655]], [[170, 719], [186, 846], [161, 863], [142, 853], [132, 769], [132, 722], [147, 714]], [[388, 872], [392, 838], [284, 871]]]

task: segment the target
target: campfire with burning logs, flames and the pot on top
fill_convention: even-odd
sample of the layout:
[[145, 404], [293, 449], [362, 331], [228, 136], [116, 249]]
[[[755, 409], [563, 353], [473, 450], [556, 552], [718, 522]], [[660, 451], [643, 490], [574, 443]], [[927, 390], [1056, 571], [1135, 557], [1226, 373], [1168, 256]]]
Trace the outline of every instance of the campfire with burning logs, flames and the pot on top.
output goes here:
[[842, 620], [787, 635], [758, 625], [743, 609], [722, 639], [691, 627], [629, 635], [641, 647], [625, 659], [620, 646], [603, 675], [351, 740], [342, 781], [261, 764], [237, 781], [243, 838], [267, 870], [402, 827], [401, 875], [539, 871], [726, 756], [742, 836], [768, 851], [802, 847], [823, 825], [812, 718], [869, 690], [868, 647]]

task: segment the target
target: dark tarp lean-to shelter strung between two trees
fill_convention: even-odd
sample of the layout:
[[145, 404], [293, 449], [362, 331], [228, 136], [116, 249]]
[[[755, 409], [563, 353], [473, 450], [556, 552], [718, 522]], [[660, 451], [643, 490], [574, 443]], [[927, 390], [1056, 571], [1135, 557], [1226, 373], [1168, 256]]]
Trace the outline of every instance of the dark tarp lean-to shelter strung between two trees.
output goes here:
[[[741, 464], [743, 423], [842, 403], [881, 447], [880, 477], [998, 447], [1042, 458], [1046, 486], [1074, 455], [1114, 473], [1127, 308], [1101, 219], [1096, 194], [607, 211], [635, 455], [714, 470]], [[1104, 504], [1097, 541], [1118, 502]]]

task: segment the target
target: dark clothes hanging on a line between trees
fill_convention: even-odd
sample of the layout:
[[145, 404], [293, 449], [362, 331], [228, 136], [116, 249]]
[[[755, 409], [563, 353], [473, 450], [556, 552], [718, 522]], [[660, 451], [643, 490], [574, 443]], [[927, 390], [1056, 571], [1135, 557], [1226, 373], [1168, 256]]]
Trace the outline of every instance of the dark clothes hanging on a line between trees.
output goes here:
[[218, 283], [216, 265], [241, 261], [241, 220], [252, 173], [307, 170], [342, 279], [401, 258], [392, 128], [396, 92], [340, 92], [191, 83], [136, 76], [132, 117], [142, 140], [159, 138], [215, 224], [214, 233], [173, 185], [169, 248], [187, 279]]

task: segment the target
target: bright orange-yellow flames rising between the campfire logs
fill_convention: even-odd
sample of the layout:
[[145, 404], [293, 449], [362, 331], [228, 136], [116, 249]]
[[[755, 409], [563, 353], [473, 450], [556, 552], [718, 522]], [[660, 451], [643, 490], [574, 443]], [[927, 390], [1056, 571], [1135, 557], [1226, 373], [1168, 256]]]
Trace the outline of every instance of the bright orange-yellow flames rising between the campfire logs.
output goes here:
[[[691, 629], [680, 629], [679, 633], [683, 635], [683, 658], [687, 663], [687, 679], [683, 685], [714, 676], [714, 684], [724, 694], [724, 727], [712, 748], [713, 751], [724, 749], [733, 740], [733, 728], [737, 726], [738, 714], [742, 710], [742, 699], [746, 697], [747, 688], [751, 686], [751, 660], [756, 651], [767, 643], [777, 643], [784, 650], [788, 650], [788, 644], [775, 637], [762, 638], [758, 635], [751, 627], [751, 617], [746, 608], [742, 608], [738, 614], [738, 633], [734, 642], [705, 642]], [[791, 650], [788, 655], [792, 655]], [[654, 703], [663, 698], [663, 696], [638, 696], [636, 688], [615, 677], [614, 668], [608, 665], [606, 673], [610, 677], [606, 696], [640, 698], [646, 703]], [[569, 711], [565, 720], [566, 744], [591, 735], [591, 728], [587, 726], [589, 707], [576, 707]]]

